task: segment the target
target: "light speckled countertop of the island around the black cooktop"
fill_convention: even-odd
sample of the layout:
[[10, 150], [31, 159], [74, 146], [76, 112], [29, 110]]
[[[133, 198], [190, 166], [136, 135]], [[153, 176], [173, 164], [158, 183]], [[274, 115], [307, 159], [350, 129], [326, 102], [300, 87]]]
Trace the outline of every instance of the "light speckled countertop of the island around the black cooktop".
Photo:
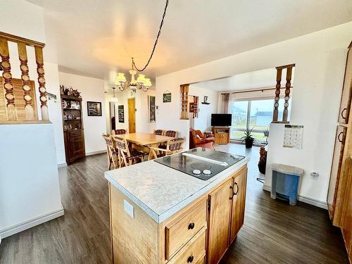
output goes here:
[[105, 177], [153, 220], [163, 222], [248, 161], [246, 157], [206, 181], [155, 161], [109, 170]]

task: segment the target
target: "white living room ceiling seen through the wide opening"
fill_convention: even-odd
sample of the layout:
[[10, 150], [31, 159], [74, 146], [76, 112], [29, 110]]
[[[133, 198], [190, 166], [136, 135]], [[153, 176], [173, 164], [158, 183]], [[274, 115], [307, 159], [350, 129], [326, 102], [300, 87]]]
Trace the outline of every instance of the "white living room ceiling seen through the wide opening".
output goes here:
[[[282, 87], [284, 87], [286, 84], [285, 78], [286, 69], [282, 70]], [[210, 89], [215, 92], [229, 92], [275, 87], [275, 80], [276, 69], [269, 68], [265, 70], [256, 70], [251, 73], [241, 73], [217, 80], [197, 82], [196, 84], [191, 85], [195, 87]], [[294, 85], [294, 68], [292, 70], [291, 85]]]

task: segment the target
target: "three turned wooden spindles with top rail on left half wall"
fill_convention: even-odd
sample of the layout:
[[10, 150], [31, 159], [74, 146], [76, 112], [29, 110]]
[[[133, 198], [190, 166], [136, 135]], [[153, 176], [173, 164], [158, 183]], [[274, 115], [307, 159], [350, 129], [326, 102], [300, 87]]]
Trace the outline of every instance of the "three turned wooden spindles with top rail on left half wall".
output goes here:
[[35, 120], [34, 114], [34, 93], [31, 93], [30, 76], [28, 68], [28, 58], [26, 46], [34, 46], [35, 60], [37, 62], [37, 74], [39, 83], [39, 100], [42, 113], [42, 120], [49, 120], [48, 106], [46, 105], [46, 88], [44, 79], [44, 60], [43, 48], [45, 44], [35, 42], [23, 37], [17, 37], [11, 34], [0, 32], [0, 56], [1, 68], [3, 70], [2, 77], [4, 78], [4, 92], [6, 99], [6, 120], [17, 121], [18, 113], [15, 104], [15, 95], [13, 92], [13, 78], [11, 75], [10, 54], [8, 51], [8, 42], [15, 42], [18, 46], [18, 57], [20, 60], [20, 72], [23, 87], [23, 101], [25, 102], [25, 120]]

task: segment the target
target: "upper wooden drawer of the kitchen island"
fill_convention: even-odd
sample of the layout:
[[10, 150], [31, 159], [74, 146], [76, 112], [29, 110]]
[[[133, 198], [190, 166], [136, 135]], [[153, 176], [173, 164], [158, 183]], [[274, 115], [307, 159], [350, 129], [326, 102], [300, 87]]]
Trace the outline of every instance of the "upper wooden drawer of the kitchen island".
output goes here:
[[206, 225], [206, 200], [189, 210], [182, 218], [165, 227], [165, 257], [170, 257]]

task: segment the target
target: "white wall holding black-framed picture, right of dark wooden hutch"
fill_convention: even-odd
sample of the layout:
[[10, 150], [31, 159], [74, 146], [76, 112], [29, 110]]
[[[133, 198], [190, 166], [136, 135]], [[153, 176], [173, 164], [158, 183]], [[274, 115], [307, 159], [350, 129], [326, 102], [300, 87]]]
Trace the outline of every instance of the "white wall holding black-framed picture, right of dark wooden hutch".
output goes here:
[[[101, 134], [106, 133], [104, 81], [69, 73], [59, 73], [59, 80], [61, 85], [73, 87], [81, 93], [86, 154], [105, 151], [106, 146], [101, 137]], [[101, 116], [88, 116], [87, 101], [101, 102]]]

